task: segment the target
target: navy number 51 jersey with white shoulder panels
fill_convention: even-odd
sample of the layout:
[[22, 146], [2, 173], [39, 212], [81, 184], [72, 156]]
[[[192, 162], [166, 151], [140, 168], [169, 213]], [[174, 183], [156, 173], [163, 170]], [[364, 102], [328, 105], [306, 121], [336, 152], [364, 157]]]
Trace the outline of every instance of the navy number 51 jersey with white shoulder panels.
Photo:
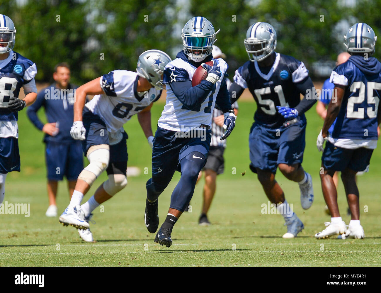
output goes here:
[[[308, 77], [303, 62], [275, 53], [275, 62], [267, 74], [261, 71], [257, 62], [247, 61], [235, 71], [234, 82], [253, 95], [257, 110], [254, 119], [266, 127], [279, 127], [285, 118], [276, 106], [295, 108], [300, 103], [300, 90], [296, 84]], [[304, 94], [304, 93], [303, 93]], [[300, 115], [305, 119], [304, 114]]]

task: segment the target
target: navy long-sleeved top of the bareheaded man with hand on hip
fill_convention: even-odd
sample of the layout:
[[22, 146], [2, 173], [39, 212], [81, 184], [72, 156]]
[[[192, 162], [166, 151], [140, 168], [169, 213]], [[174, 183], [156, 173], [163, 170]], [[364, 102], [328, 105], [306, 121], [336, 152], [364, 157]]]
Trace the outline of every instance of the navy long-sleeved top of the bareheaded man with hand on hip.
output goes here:
[[45, 108], [49, 123], [57, 122], [59, 132], [56, 136], [45, 134], [44, 142], [72, 142], [70, 129], [74, 119], [74, 93], [76, 85], [69, 84], [68, 89], [58, 89], [56, 84], [40, 90], [35, 102], [28, 107], [27, 115], [35, 127], [42, 130], [44, 124], [38, 119], [37, 111]]

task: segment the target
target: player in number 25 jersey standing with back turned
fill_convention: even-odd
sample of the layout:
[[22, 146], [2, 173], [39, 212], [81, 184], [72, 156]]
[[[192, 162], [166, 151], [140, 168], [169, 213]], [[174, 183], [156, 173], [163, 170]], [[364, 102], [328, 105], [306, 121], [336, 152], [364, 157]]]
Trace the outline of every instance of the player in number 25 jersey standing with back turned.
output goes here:
[[[364, 238], [360, 225], [359, 190], [355, 175], [367, 169], [377, 146], [377, 126], [381, 94], [381, 63], [373, 56], [377, 37], [366, 23], [354, 24], [344, 36], [344, 45], [351, 57], [333, 69], [330, 81], [335, 85], [328, 105], [323, 129], [317, 138], [317, 148], [323, 151], [323, 174], [320, 173], [325, 203], [330, 210], [331, 222], [316, 233], [316, 238], [342, 234], [341, 238]], [[337, 119], [336, 119], [337, 118]], [[328, 130], [335, 121], [332, 133]], [[341, 171], [351, 221], [347, 229], [337, 204], [337, 190], [333, 174]]]

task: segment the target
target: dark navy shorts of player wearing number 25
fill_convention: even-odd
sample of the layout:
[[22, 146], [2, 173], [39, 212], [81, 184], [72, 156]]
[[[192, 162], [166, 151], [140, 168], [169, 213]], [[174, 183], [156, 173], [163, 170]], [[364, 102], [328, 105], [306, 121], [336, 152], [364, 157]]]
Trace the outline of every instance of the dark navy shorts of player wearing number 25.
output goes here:
[[360, 172], [367, 169], [372, 153], [373, 150], [369, 148], [349, 150], [335, 147], [332, 143], [326, 142], [322, 155], [322, 163], [327, 170], [343, 171], [348, 167], [353, 171]]

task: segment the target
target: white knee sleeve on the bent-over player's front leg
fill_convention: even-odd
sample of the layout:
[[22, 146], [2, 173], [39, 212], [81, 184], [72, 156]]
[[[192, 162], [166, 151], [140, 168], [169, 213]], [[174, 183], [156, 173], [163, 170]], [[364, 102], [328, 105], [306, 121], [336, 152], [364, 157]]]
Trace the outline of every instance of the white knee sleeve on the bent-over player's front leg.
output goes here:
[[78, 179], [92, 185], [101, 173], [109, 165], [110, 150], [109, 145], [94, 145], [89, 148], [87, 158], [90, 162], [79, 174]]

